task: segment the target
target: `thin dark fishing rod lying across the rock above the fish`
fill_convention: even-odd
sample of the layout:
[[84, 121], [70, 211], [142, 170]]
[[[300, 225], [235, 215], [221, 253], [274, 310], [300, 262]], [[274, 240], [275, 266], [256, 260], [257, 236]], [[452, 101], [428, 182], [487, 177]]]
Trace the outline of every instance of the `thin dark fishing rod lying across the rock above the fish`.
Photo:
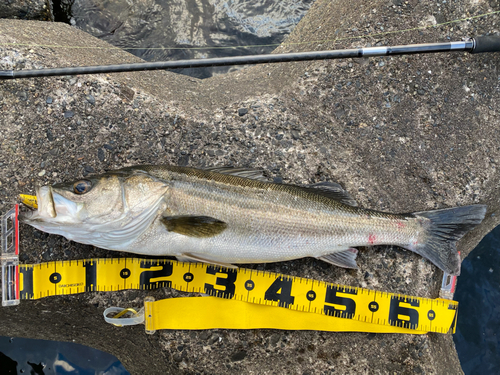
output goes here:
[[267, 55], [251, 55], [236, 57], [217, 57], [211, 59], [192, 59], [177, 61], [146, 62], [135, 64], [119, 65], [96, 65], [80, 66], [68, 68], [53, 69], [33, 69], [33, 70], [3, 70], [0, 71], [0, 80], [65, 76], [76, 74], [102, 74], [102, 73], [120, 73], [137, 72], [146, 70], [161, 69], [181, 69], [181, 68], [205, 68], [212, 66], [226, 65], [250, 65], [250, 64], [269, 64], [291, 61], [310, 61], [310, 60], [328, 60], [345, 59], [375, 56], [394, 56], [409, 55], [417, 53], [437, 53], [437, 52], [457, 52], [465, 51], [470, 53], [499, 52], [500, 36], [480, 36], [467, 39], [461, 42], [446, 43], [427, 43], [427, 44], [408, 44], [393, 47], [366, 47], [344, 50], [318, 51], [318, 52], [298, 52], [281, 53]]

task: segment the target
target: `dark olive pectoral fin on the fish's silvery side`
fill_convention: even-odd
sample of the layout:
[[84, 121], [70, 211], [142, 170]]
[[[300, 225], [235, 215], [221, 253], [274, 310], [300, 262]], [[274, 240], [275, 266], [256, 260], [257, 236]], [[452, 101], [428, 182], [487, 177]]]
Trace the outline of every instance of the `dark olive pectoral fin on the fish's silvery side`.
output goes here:
[[160, 219], [169, 232], [190, 237], [213, 237], [226, 229], [227, 224], [210, 216], [166, 216]]

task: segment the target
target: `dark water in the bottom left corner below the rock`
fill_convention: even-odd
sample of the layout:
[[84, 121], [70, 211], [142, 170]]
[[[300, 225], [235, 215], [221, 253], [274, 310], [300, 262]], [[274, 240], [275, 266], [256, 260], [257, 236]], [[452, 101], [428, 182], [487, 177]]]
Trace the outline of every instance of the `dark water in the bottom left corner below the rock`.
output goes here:
[[129, 374], [115, 356], [88, 346], [3, 336], [0, 336], [0, 373]]

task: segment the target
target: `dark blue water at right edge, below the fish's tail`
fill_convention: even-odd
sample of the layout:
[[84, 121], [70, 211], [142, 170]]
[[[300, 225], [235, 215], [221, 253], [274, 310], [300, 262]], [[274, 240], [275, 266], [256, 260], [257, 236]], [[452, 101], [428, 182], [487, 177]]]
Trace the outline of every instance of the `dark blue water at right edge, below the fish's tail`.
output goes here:
[[453, 336], [465, 374], [500, 374], [500, 226], [465, 258]]

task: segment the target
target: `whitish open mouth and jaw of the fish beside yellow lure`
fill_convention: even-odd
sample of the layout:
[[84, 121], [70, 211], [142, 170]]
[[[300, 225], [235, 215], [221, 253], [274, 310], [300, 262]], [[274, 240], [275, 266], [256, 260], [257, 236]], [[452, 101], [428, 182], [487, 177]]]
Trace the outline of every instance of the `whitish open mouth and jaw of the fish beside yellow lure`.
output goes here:
[[42, 186], [36, 189], [38, 209], [21, 212], [19, 220], [33, 221], [65, 221], [74, 217], [78, 211], [77, 204], [53, 191], [52, 186]]

